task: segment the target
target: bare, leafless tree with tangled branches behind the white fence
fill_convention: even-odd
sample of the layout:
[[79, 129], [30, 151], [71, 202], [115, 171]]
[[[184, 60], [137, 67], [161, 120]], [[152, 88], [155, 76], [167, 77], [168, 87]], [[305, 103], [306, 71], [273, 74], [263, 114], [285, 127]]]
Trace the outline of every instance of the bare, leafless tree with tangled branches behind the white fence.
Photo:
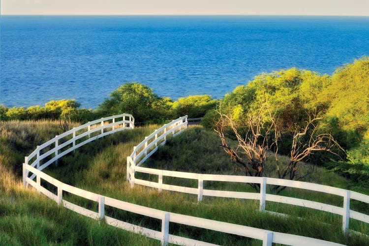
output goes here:
[[[284, 131], [277, 127], [277, 112], [272, 112], [268, 101], [263, 100], [254, 112], [247, 112], [245, 121], [236, 123], [230, 113], [224, 114], [222, 107], [217, 108], [219, 119], [215, 126], [215, 132], [219, 135], [224, 151], [230, 155], [234, 162], [247, 176], [266, 177], [264, 171], [266, 159], [274, 155], [277, 161], [277, 175], [279, 179], [300, 180], [310, 172], [301, 173], [303, 160], [316, 152], [329, 152], [338, 155], [343, 151], [331, 134], [318, 134], [318, 122], [322, 118], [308, 112], [308, 120], [302, 126], [294, 123], [294, 132]], [[241, 129], [241, 126], [245, 129]], [[291, 127], [290, 127], [291, 128]], [[238, 140], [237, 147], [229, 144], [225, 134], [230, 131]], [[242, 133], [241, 133], [242, 132]], [[291, 142], [290, 161], [281, 166], [278, 160], [278, 144], [282, 138], [288, 135]], [[343, 151], [344, 152], [344, 151]], [[259, 190], [259, 184], [250, 184]], [[276, 185], [271, 190], [279, 193], [285, 187]]]

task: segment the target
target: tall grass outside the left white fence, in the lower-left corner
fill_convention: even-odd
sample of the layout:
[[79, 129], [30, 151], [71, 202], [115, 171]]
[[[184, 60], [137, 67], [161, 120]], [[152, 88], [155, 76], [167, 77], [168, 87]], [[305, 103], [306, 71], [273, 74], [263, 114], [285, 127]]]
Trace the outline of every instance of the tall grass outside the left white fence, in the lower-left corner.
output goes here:
[[0, 122], [0, 246], [159, 245], [64, 209], [23, 187], [24, 156], [60, 133], [56, 121]]

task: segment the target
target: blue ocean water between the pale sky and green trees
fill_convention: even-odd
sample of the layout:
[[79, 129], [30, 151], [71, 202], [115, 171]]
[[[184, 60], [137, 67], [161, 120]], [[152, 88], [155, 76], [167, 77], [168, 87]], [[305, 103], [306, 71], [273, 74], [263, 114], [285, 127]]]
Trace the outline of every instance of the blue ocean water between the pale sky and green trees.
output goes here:
[[96, 108], [124, 82], [215, 98], [293, 66], [332, 74], [369, 55], [369, 17], [1, 16], [0, 103], [75, 98]]

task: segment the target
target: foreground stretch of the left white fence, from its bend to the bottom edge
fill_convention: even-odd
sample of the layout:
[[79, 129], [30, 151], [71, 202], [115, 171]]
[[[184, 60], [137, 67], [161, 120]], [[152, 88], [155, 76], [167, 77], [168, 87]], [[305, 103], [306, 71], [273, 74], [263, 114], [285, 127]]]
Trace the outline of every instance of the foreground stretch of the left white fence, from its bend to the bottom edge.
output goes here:
[[[177, 244], [177, 245], [213, 245], [206, 242], [197, 241], [190, 238], [184, 238], [176, 235], [169, 234], [169, 224], [179, 223], [183, 225], [195, 226], [199, 228], [205, 228], [209, 230], [214, 230], [218, 232], [224, 232], [234, 235], [239, 235], [243, 237], [259, 239], [263, 241], [263, 245], [271, 246], [272, 243], [285, 244], [285, 245], [306, 245], [306, 246], [338, 246], [339, 244], [327, 242], [319, 239], [307, 238], [303, 236], [279, 233], [268, 231], [264, 229], [231, 224], [211, 219], [199, 218], [188, 215], [181, 215], [176, 213], [170, 213], [166, 211], [161, 211], [157, 209], [147, 208], [144, 206], [123, 202], [114, 198], [102, 196], [96, 193], [92, 193], [87, 190], [83, 190], [77, 187], [73, 187], [69, 184], [64, 184], [59, 180], [56, 180], [49, 175], [43, 173], [37, 168], [27, 165], [23, 163], [24, 172], [30, 171], [36, 176], [37, 182], [34, 182], [30, 178], [26, 178], [27, 184], [35, 187], [39, 193], [43, 193], [49, 198], [53, 199], [58, 204], [62, 204], [63, 207], [70, 209], [78, 214], [85, 215], [91, 217], [96, 220], [105, 219], [106, 223], [122, 228], [124, 230], [128, 230], [134, 233], [140, 233], [147, 237], [160, 240], [162, 245], [167, 245], [168, 243]], [[41, 179], [48, 182], [49, 184], [53, 184], [58, 188], [57, 194], [47, 190], [42, 187], [40, 182]], [[98, 212], [94, 212], [92, 210], [80, 207], [71, 202], [63, 200], [62, 192], [66, 191], [77, 196], [89, 199], [94, 202], [98, 202]], [[112, 217], [105, 215], [105, 205], [114, 207], [117, 209], [121, 209], [124, 211], [128, 211], [131, 213], [145, 215], [152, 218], [157, 218], [162, 220], [161, 230], [155, 231], [152, 229], [148, 229], [145, 227], [141, 227], [138, 225], [130, 224]]]

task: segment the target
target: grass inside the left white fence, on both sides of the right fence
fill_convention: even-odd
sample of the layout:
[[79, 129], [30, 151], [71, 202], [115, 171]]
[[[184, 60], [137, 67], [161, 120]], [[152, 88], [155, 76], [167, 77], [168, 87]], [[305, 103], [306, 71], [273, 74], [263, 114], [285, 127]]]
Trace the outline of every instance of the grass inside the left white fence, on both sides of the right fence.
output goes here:
[[[58, 168], [49, 169], [49, 173], [62, 182], [83, 189], [173, 213], [314, 237], [348, 245], [368, 243], [365, 238], [345, 236], [341, 232], [341, 217], [326, 212], [267, 202], [267, 210], [290, 215], [290, 217], [281, 217], [260, 213], [258, 211], [258, 201], [205, 197], [203, 202], [197, 203], [195, 195], [169, 191], [158, 193], [157, 189], [140, 185], [135, 185], [131, 189], [129, 184], [125, 182], [126, 156], [131, 154], [133, 146], [141, 142], [154, 129], [157, 129], [157, 126], [145, 126], [132, 131], [124, 131], [84, 146], [78, 153], [62, 158]], [[190, 127], [183, 134], [175, 138], [168, 138], [167, 144], [144, 163], [144, 166], [194, 173], [242, 175], [242, 172], [230, 163], [228, 156], [217, 147], [218, 145], [218, 139], [213, 132], [205, 131], [201, 127]], [[280, 157], [280, 159], [283, 158], [287, 161], [286, 157]], [[269, 160], [268, 167], [273, 168], [273, 165], [273, 161]], [[304, 168], [309, 169], [308, 166]], [[157, 180], [157, 176], [151, 177], [139, 173], [136, 173], [136, 175], [143, 179]], [[321, 168], [317, 168], [306, 181], [342, 188], [349, 185], [343, 178]], [[181, 184], [189, 187], [196, 187], [197, 185], [197, 182], [169, 177], [164, 178], [164, 183]], [[205, 188], [211, 189], [254, 192], [247, 184], [205, 182], [204, 185]], [[283, 191], [283, 195], [337, 206], [342, 206], [343, 202], [335, 195], [322, 195], [320, 192], [298, 189], [286, 189]], [[67, 199], [97, 211], [97, 203], [92, 203], [74, 195], [67, 196]], [[148, 228], [159, 228], [158, 221], [145, 216], [126, 213], [113, 208], [107, 208], [107, 214]], [[351, 221], [350, 228], [369, 232], [367, 225], [356, 221]], [[170, 233], [215, 244], [260, 243], [183, 225], [172, 226]]]

